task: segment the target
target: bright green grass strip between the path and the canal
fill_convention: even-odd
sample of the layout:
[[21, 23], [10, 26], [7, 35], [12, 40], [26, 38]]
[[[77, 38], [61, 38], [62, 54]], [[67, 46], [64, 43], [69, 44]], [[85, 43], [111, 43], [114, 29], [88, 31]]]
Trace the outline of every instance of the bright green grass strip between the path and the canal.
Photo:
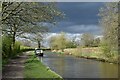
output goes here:
[[63, 80], [59, 75], [51, 71], [48, 67], [43, 65], [38, 58], [33, 59], [33, 55], [29, 55], [29, 59], [25, 63], [24, 76], [25, 78], [46, 78], [48, 80]]

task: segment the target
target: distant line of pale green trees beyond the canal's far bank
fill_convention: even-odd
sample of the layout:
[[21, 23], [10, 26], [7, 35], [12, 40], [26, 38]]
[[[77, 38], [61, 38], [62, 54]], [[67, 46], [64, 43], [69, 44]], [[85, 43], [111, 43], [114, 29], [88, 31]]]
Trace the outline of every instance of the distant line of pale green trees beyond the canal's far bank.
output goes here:
[[50, 47], [56, 50], [63, 50], [66, 48], [76, 48], [78, 46], [82, 47], [98, 47], [100, 44], [100, 39], [95, 38], [92, 34], [84, 33], [81, 38], [82, 44], [78, 45], [75, 39], [68, 39], [66, 33], [60, 33], [56, 36], [50, 38]]

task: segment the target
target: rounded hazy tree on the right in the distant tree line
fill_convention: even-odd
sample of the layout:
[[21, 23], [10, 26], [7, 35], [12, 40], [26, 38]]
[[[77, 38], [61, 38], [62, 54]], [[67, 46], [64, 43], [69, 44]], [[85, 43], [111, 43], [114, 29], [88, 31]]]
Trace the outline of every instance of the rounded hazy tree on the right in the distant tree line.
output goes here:
[[84, 47], [92, 47], [94, 36], [90, 33], [84, 33], [81, 37], [81, 41]]

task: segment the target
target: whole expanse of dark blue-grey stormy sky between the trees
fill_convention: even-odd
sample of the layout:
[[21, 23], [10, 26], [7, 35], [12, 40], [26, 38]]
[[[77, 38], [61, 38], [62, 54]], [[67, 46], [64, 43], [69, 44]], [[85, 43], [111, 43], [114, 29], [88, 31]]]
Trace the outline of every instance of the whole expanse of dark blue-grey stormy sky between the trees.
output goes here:
[[[57, 6], [63, 11], [65, 19], [59, 22], [53, 32], [68, 32], [68, 33], [85, 33], [94, 32], [100, 33], [98, 26], [99, 8], [103, 3], [96, 2], [59, 2]], [[84, 25], [84, 26], [82, 26]]]

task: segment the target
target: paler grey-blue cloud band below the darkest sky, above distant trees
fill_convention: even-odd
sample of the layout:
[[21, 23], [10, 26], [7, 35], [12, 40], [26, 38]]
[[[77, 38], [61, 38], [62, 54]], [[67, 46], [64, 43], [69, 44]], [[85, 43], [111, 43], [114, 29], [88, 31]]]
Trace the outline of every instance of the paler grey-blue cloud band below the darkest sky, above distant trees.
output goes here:
[[94, 24], [88, 25], [68, 25], [65, 23], [60, 23], [59, 26], [54, 27], [53, 32], [67, 32], [67, 33], [92, 33], [101, 34], [101, 27]]

